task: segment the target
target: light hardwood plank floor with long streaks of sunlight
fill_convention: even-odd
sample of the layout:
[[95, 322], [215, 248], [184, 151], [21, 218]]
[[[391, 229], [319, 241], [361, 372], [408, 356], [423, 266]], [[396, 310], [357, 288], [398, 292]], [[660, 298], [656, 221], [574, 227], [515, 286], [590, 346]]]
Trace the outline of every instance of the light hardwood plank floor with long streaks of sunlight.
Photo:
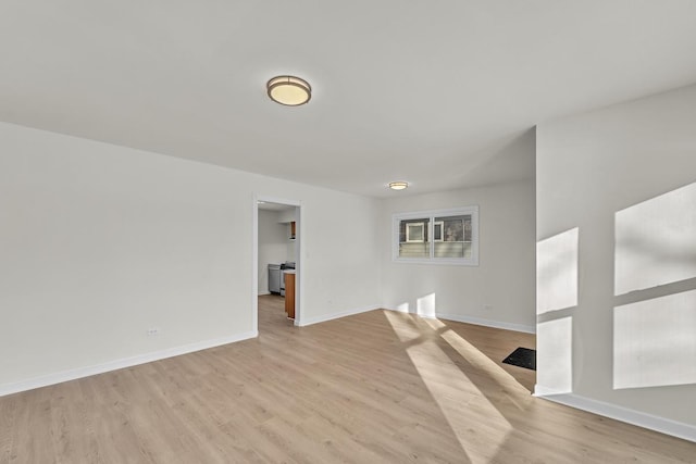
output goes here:
[[534, 336], [372, 311], [0, 398], [0, 463], [670, 463], [696, 444], [533, 398]]

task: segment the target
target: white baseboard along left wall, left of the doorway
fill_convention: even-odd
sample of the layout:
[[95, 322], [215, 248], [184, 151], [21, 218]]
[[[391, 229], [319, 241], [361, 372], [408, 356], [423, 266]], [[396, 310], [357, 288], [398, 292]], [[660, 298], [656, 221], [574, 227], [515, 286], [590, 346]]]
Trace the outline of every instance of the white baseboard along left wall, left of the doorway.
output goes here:
[[166, 358], [178, 356], [182, 354], [192, 353], [194, 351], [207, 350], [209, 348], [220, 347], [222, 344], [234, 343], [235, 341], [247, 340], [259, 336], [258, 331], [248, 331], [234, 335], [231, 337], [222, 337], [213, 340], [204, 340], [196, 343], [184, 344], [182, 347], [169, 348], [166, 350], [153, 351], [150, 353], [138, 354], [136, 356], [124, 358], [121, 360], [109, 361], [103, 364], [92, 366], [77, 367], [70, 371], [42, 375], [10, 384], [0, 385], [0, 397], [5, 394], [17, 393], [20, 391], [33, 390], [35, 388], [48, 387], [49, 385], [61, 384], [63, 381], [75, 380], [77, 378], [89, 377], [91, 375], [103, 374], [110, 371], [116, 371], [124, 367], [137, 366], [138, 364], [151, 363], [153, 361], [164, 360]]

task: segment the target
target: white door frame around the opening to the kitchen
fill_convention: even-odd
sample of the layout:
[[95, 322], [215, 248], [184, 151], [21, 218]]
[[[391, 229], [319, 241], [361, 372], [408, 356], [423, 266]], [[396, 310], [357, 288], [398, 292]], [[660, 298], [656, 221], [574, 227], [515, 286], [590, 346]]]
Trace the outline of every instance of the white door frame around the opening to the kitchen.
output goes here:
[[253, 334], [259, 334], [259, 201], [264, 201], [266, 203], [277, 203], [285, 204], [288, 206], [295, 206], [295, 229], [296, 229], [296, 241], [295, 241], [295, 325], [300, 326], [302, 321], [302, 293], [303, 293], [303, 281], [302, 278], [302, 240], [304, 234], [302, 234], [302, 220], [303, 220], [303, 209], [302, 202], [299, 200], [288, 200], [285, 198], [277, 197], [269, 197], [262, 196], [258, 193], [253, 193], [253, 204], [252, 204], [252, 255], [251, 255], [251, 292], [252, 292], [252, 301], [251, 301], [251, 327]]

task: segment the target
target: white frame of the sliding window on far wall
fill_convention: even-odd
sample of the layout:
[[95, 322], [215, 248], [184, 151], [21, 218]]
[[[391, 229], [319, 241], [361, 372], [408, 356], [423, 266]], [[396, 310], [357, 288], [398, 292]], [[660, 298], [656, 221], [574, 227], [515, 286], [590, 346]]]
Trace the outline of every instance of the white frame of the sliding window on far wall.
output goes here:
[[[434, 226], [435, 217], [447, 216], [471, 216], [471, 258], [435, 258], [435, 241], [434, 240]], [[399, 256], [399, 225], [401, 221], [409, 220], [428, 220], [428, 234], [430, 240], [430, 258], [402, 258]], [[442, 224], [440, 221], [437, 223]], [[413, 223], [418, 224], [418, 223]], [[421, 223], [422, 224], [422, 223]], [[407, 241], [408, 237], [408, 224], [407, 224]], [[442, 237], [437, 241], [444, 240], [445, 230], [440, 228]], [[396, 263], [413, 263], [413, 264], [450, 264], [460, 266], [477, 266], [478, 265], [478, 205], [452, 208], [447, 210], [427, 210], [415, 211], [408, 213], [396, 213], [391, 216], [391, 261]]]

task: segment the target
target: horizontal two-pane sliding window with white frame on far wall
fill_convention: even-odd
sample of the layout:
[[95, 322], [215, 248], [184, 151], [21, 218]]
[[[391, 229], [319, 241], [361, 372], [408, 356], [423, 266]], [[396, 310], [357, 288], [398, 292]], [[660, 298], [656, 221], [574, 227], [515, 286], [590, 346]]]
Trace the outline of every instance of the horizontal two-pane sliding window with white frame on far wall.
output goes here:
[[394, 260], [478, 265], [478, 206], [394, 215]]

